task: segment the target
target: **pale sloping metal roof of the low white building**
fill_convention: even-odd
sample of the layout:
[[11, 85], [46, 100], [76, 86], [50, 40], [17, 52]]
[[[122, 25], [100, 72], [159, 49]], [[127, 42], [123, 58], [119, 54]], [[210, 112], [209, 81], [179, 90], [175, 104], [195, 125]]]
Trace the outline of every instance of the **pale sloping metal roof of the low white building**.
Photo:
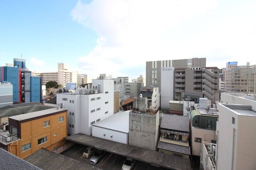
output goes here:
[[124, 112], [117, 112], [113, 116], [93, 124], [93, 126], [129, 133], [129, 110]]

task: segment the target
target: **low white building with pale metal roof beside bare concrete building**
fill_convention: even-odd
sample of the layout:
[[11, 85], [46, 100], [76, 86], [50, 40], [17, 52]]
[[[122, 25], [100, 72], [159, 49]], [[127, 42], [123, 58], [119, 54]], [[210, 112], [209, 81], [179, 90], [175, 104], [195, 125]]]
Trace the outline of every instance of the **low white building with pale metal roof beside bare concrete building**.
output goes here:
[[129, 110], [118, 112], [109, 118], [93, 124], [93, 136], [128, 144]]

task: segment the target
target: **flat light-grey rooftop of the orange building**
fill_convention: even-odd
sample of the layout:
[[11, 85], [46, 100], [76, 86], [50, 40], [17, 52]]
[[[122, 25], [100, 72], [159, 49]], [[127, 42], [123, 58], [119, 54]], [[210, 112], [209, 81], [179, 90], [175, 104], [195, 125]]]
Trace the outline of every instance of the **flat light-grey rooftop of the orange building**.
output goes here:
[[27, 113], [27, 114], [11, 116], [10, 118], [20, 121], [20, 120], [35, 118], [35, 117], [38, 117], [38, 116], [44, 116], [44, 115], [52, 114], [52, 113], [59, 112], [59, 111], [65, 111], [65, 110], [67, 110], [67, 109], [63, 109], [63, 108], [57, 109], [56, 107], [54, 107], [54, 108], [41, 110], [41, 111], [36, 111], [36, 112], [31, 112], [31, 113]]

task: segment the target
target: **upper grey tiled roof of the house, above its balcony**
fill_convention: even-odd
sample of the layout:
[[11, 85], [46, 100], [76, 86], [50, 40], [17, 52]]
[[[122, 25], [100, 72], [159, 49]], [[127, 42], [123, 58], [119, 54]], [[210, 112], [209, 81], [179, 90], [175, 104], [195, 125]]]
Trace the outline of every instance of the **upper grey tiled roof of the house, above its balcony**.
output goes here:
[[188, 116], [162, 114], [161, 128], [189, 132]]

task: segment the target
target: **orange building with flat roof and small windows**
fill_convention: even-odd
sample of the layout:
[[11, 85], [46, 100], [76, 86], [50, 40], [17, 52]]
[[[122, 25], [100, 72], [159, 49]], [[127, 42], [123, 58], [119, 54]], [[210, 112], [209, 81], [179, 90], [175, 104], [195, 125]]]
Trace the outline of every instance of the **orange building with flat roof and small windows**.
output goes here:
[[24, 159], [41, 148], [52, 151], [64, 145], [63, 138], [67, 137], [67, 109], [51, 108], [11, 116], [9, 127], [8, 152]]

